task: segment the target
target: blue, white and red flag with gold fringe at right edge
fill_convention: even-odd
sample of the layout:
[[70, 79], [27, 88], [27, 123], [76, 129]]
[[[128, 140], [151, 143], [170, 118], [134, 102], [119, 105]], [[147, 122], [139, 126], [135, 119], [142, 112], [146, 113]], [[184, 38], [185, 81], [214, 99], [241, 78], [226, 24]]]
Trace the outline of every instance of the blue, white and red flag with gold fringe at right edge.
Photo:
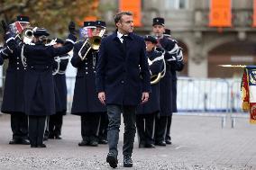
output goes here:
[[250, 122], [256, 124], [256, 67], [244, 68], [241, 87], [242, 110], [250, 112]]

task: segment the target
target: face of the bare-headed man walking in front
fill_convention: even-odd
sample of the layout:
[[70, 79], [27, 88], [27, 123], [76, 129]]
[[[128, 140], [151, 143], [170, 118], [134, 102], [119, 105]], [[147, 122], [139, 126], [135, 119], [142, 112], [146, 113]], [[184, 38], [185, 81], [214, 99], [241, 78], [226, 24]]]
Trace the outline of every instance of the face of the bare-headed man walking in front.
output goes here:
[[133, 16], [123, 14], [121, 20], [116, 23], [118, 31], [121, 31], [123, 34], [128, 34], [133, 32]]

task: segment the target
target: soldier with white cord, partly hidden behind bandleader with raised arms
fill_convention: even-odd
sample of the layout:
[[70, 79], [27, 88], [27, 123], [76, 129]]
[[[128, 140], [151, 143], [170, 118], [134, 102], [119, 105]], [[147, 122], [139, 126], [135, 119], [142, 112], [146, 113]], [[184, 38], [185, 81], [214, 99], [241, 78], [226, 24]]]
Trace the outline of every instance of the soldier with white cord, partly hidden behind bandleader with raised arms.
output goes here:
[[[54, 48], [59, 48], [64, 45], [64, 40], [56, 39]], [[67, 83], [66, 69], [69, 64], [69, 54], [61, 55], [55, 58], [53, 65], [53, 81], [55, 93], [55, 108], [56, 114], [50, 115], [49, 118], [49, 139], [61, 139], [61, 127], [63, 115], [67, 112]]]

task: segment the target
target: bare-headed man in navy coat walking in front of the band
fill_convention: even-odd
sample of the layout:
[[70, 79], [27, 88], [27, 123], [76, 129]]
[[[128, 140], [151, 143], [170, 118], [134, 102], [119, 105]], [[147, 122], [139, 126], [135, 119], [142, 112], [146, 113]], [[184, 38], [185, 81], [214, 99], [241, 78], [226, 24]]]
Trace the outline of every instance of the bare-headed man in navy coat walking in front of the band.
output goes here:
[[133, 33], [133, 13], [114, 16], [117, 30], [102, 40], [96, 72], [96, 91], [108, 114], [106, 162], [117, 166], [117, 143], [123, 112], [123, 166], [132, 167], [133, 142], [136, 133], [136, 107], [146, 103], [151, 91], [150, 70], [145, 42]]

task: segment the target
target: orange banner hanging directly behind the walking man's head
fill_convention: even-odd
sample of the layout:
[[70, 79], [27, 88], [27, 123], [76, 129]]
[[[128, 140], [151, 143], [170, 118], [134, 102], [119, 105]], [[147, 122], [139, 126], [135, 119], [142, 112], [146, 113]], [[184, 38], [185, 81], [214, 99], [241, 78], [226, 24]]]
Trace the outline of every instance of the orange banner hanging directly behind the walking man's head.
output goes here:
[[119, 11], [133, 12], [135, 27], [142, 26], [142, 2], [141, 0], [119, 0]]

